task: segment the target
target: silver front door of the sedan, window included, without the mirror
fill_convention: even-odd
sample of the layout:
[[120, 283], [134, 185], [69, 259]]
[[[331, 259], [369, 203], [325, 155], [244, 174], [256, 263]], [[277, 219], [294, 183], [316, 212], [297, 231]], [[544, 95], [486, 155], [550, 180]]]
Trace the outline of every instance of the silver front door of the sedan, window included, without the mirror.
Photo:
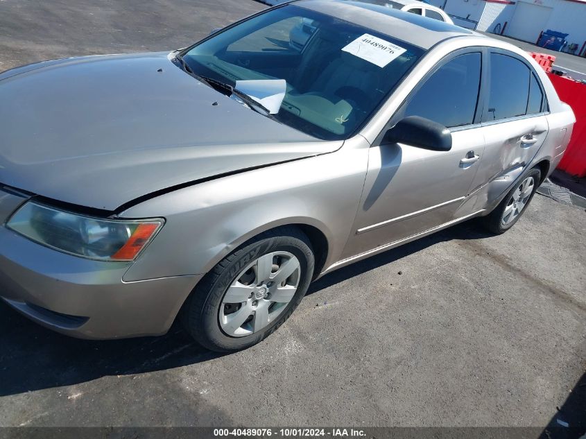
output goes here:
[[343, 259], [426, 232], [456, 218], [485, 141], [480, 126], [482, 49], [448, 55], [415, 87], [386, 130], [417, 115], [450, 128], [449, 151], [385, 144], [370, 148], [359, 210]]

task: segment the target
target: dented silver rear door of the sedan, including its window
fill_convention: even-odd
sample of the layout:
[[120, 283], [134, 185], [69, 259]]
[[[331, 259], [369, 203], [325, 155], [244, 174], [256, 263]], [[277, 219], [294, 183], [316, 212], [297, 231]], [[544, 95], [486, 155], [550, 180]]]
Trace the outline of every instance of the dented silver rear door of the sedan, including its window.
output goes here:
[[475, 187], [523, 169], [549, 131], [547, 101], [531, 64], [501, 49], [491, 49], [488, 60], [488, 98], [482, 114], [486, 146]]

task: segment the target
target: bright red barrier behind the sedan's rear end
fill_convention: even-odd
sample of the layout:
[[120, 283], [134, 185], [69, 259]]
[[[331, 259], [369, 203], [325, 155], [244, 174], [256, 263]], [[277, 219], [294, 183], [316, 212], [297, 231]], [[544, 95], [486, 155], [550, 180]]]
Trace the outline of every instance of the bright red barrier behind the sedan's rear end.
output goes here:
[[576, 125], [558, 169], [578, 177], [586, 177], [586, 84], [554, 74], [548, 76], [560, 99], [576, 115]]

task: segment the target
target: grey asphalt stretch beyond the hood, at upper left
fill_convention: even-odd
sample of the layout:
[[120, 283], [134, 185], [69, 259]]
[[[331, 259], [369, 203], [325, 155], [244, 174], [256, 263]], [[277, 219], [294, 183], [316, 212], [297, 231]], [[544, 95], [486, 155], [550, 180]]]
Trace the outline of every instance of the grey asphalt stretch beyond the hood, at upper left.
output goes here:
[[0, 71], [69, 56], [171, 51], [266, 7], [252, 0], [1, 0]]

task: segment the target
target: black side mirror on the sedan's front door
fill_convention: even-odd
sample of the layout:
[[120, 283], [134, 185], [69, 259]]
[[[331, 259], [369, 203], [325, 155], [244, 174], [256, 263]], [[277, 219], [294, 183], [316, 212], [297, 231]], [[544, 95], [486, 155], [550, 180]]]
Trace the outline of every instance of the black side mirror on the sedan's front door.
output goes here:
[[441, 123], [424, 117], [408, 116], [386, 132], [384, 143], [407, 144], [432, 151], [449, 151], [451, 132]]

